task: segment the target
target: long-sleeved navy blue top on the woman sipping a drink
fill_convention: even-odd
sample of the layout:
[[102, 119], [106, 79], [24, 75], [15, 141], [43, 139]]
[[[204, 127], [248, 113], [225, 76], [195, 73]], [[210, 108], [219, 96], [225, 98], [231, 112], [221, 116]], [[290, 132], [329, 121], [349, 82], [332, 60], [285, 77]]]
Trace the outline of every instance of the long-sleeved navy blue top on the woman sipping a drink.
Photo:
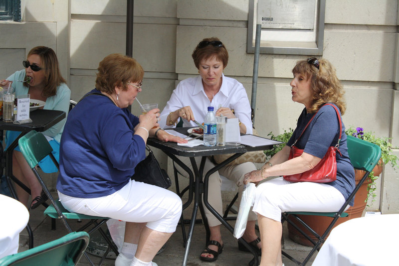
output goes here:
[[144, 139], [134, 135], [138, 124], [138, 117], [108, 97], [82, 99], [69, 113], [62, 133], [57, 190], [96, 198], [125, 186], [146, 155]]

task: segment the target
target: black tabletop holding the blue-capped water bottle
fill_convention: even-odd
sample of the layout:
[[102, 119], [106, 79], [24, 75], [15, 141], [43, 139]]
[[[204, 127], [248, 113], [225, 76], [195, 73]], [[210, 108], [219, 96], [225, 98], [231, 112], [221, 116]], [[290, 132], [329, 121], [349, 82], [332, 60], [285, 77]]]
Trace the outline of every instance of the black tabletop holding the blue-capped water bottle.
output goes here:
[[[175, 131], [188, 134], [187, 130], [190, 128], [176, 128]], [[160, 141], [155, 138], [149, 138], [147, 140], [147, 144], [150, 146], [159, 148], [165, 152], [169, 152], [175, 155], [185, 156], [185, 157], [197, 157], [197, 156], [209, 156], [215, 154], [225, 154], [225, 153], [240, 153], [240, 152], [247, 152], [247, 151], [255, 151], [255, 150], [266, 150], [271, 149], [273, 145], [264, 145], [264, 146], [257, 146], [257, 147], [250, 147], [246, 145], [225, 145], [225, 146], [195, 146], [195, 147], [185, 147], [179, 146], [175, 142], [164, 142]]]

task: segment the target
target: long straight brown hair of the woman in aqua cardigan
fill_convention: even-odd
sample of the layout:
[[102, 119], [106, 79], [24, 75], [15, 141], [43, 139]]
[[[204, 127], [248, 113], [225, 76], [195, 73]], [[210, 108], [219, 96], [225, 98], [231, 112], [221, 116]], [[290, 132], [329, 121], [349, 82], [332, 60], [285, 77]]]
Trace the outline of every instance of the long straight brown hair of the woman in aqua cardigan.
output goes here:
[[[54, 50], [46, 46], [36, 46], [29, 51], [28, 57], [32, 54], [37, 54], [41, 59], [41, 63], [43, 64], [41, 67], [44, 71], [45, 85], [42, 91], [42, 95], [44, 97], [56, 95], [57, 86], [59, 86], [61, 83], [66, 83], [66, 81], [61, 76], [61, 73], [59, 71], [58, 59], [55, 55]], [[24, 82], [23, 85], [25, 87], [28, 87], [27, 82]]]

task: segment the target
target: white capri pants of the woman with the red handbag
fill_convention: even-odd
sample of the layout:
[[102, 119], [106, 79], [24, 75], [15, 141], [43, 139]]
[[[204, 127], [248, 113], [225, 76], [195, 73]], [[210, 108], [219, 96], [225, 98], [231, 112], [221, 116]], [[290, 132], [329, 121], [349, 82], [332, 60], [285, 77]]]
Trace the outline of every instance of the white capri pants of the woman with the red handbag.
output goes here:
[[315, 182], [295, 183], [280, 176], [257, 186], [253, 211], [281, 222], [283, 212], [336, 212], [344, 203], [344, 195], [333, 186]]

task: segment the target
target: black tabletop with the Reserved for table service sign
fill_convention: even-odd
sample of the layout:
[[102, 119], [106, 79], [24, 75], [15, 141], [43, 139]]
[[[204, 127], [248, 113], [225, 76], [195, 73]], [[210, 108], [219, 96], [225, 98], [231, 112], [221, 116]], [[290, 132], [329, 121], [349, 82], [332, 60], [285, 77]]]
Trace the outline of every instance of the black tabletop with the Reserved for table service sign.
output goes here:
[[60, 122], [66, 117], [65, 112], [58, 110], [37, 109], [29, 113], [31, 123], [14, 124], [12, 122], [0, 121], [0, 130], [29, 132], [35, 130], [43, 132]]

